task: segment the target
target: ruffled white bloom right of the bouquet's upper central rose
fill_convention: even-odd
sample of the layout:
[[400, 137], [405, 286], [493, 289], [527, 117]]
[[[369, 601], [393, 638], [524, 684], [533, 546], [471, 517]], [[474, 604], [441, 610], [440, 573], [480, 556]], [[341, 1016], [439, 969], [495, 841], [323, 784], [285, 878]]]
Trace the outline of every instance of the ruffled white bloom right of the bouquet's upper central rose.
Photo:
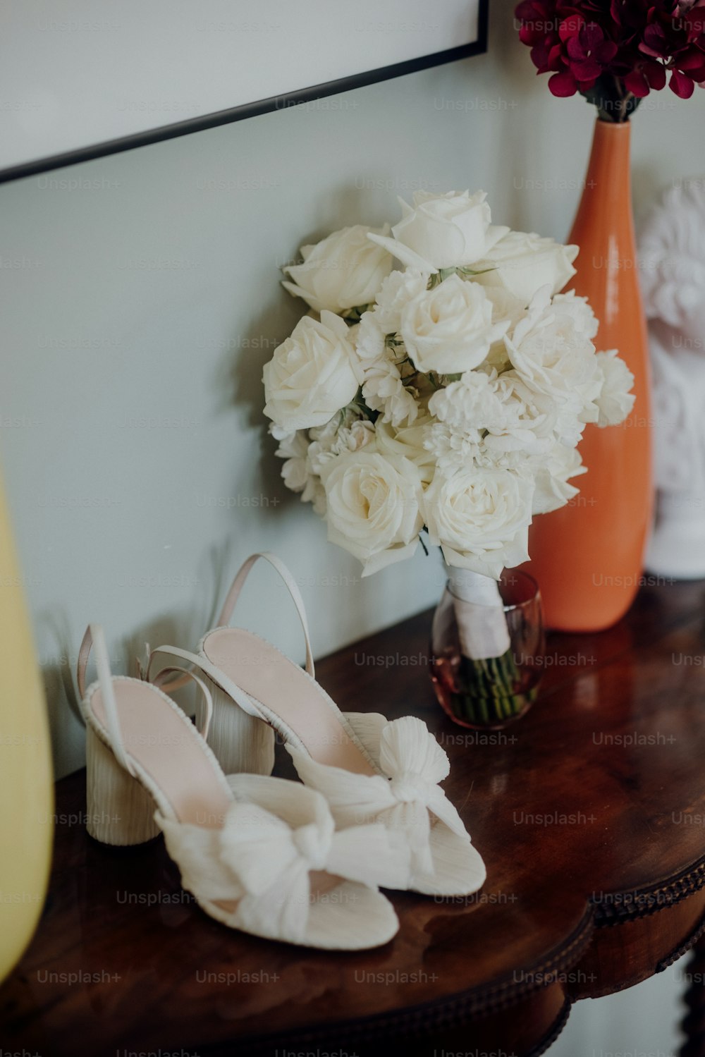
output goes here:
[[577, 444], [587, 422], [597, 421], [594, 403], [601, 388], [595, 347], [577, 330], [571, 314], [554, 311], [540, 291], [530, 312], [504, 342], [518, 376], [556, 405], [556, 430], [564, 443]]

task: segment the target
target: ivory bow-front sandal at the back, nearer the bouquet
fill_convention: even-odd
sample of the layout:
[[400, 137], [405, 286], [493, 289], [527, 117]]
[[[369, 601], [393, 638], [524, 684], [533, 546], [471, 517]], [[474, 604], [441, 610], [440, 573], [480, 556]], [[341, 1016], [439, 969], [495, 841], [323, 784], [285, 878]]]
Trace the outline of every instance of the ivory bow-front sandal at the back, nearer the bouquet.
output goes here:
[[[229, 627], [258, 558], [277, 570], [294, 600], [305, 639], [305, 671], [253, 632]], [[449, 772], [447, 755], [420, 719], [390, 722], [377, 712], [340, 711], [315, 680], [303, 601], [275, 555], [253, 554], [243, 563], [218, 626], [203, 636], [198, 653], [172, 646], [155, 652], [162, 651], [198, 667], [206, 680], [214, 699], [208, 741], [224, 769], [231, 762], [237, 715], [258, 717], [283, 738], [299, 777], [324, 795], [340, 829], [378, 821], [402, 839], [408, 869], [394, 887], [432, 895], [467, 895], [482, 887], [482, 857], [438, 784]]]

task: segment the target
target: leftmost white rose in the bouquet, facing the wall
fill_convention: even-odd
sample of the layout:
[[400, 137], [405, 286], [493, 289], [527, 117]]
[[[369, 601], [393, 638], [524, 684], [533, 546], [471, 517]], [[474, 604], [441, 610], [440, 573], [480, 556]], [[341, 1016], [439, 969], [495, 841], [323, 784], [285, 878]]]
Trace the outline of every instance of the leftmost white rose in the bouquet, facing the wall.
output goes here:
[[303, 316], [264, 365], [264, 413], [283, 429], [322, 426], [355, 396], [361, 369], [348, 326], [332, 312]]

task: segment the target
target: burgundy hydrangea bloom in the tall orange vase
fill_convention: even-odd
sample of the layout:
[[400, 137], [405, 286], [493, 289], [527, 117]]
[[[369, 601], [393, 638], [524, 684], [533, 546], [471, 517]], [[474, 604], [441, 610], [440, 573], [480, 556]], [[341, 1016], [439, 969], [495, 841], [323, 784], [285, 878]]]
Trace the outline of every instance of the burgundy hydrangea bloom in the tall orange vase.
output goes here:
[[553, 94], [580, 92], [607, 120], [666, 81], [682, 98], [705, 87], [705, 0], [522, 0], [516, 17]]

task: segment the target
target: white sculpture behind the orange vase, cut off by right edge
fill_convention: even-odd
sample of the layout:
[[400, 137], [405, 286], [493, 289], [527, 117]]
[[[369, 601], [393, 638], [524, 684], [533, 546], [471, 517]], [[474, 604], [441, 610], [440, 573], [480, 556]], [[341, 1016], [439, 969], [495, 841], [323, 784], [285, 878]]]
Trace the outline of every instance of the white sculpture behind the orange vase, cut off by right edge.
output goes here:
[[656, 520], [647, 569], [705, 576], [705, 177], [669, 188], [639, 240], [653, 371]]

